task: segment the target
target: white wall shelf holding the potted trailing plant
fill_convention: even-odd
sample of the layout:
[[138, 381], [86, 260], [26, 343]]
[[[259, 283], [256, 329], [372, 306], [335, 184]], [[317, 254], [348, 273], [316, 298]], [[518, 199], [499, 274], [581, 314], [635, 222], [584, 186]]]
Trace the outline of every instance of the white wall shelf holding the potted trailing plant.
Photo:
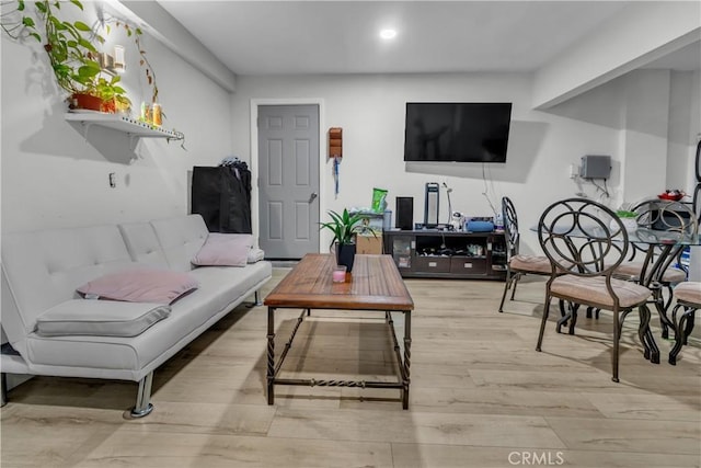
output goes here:
[[131, 117], [124, 117], [117, 114], [107, 114], [104, 112], [69, 112], [66, 114], [66, 121], [79, 122], [84, 127], [83, 136], [88, 139], [88, 132], [93, 125], [112, 128], [124, 132], [129, 136], [130, 148], [136, 148], [139, 138], [165, 138], [170, 140], [182, 140], [185, 138], [180, 132], [166, 130], [146, 124]]

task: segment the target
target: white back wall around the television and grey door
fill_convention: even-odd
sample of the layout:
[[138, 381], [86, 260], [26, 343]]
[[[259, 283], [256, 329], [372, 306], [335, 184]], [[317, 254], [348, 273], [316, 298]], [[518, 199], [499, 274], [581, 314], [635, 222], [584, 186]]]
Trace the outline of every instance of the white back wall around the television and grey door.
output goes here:
[[[596, 196], [594, 187], [578, 186], [568, 179], [570, 163], [578, 162], [586, 153], [617, 157], [619, 150], [616, 129], [532, 111], [531, 84], [527, 75], [504, 73], [241, 76], [233, 95], [234, 153], [248, 157], [251, 151], [251, 100], [321, 100], [325, 114], [322, 128], [343, 127], [344, 145], [337, 198], [333, 192], [332, 163], [324, 163], [322, 218], [326, 209], [369, 206], [372, 189], [381, 187], [389, 190], [388, 207], [392, 210], [397, 196], [413, 196], [414, 221], [423, 221], [425, 183], [446, 182], [453, 189], [453, 210], [470, 216], [493, 216], [490, 204], [501, 209], [501, 197], [508, 195], [527, 230], [537, 224], [543, 208], [558, 198], [579, 191]], [[468, 163], [404, 163], [407, 101], [513, 102], [507, 163], [484, 168]], [[440, 218], [447, 220], [445, 191], [440, 204]], [[524, 235], [525, 250], [537, 250], [535, 235]], [[324, 242], [322, 239], [321, 243]]]

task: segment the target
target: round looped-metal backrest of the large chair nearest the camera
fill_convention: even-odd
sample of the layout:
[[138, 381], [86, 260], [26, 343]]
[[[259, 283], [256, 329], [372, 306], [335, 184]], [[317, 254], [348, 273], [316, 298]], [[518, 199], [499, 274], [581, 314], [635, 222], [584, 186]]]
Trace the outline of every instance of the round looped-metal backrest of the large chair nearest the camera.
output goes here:
[[553, 272], [577, 276], [610, 277], [628, 252], [628, 232], [621, 219], [588, 198], [550, 205], [538, 221], [538, 240]]

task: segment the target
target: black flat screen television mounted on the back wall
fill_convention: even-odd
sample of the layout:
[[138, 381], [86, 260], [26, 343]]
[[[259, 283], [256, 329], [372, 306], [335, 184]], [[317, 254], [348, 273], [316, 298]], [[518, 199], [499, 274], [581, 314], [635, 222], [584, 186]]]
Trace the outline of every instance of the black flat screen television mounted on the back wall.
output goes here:
[[407, 102], [404, 161], [506, 162], [510, 102]]

